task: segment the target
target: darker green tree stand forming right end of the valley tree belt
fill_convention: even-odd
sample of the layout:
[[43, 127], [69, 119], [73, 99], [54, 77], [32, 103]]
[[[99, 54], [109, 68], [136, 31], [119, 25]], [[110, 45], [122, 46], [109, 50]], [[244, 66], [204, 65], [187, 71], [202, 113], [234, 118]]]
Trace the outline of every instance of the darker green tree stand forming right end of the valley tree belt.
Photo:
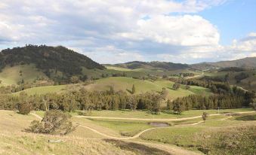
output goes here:
[[233, 87], [229, 93], [224, 94], [177, 98], [173, 102], [168, 102], [168, 109], [180, 113], [190, 109], [242, 108], [248, 107], [254, 97], [254, 92], [245, 92]]

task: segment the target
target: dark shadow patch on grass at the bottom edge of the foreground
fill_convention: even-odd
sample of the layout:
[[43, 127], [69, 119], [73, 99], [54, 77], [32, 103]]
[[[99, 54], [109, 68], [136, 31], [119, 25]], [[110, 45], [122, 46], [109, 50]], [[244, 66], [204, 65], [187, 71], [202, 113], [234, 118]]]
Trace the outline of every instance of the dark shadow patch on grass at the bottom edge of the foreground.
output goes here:
[[104, 141], [111, 144], [115, 144], [116, 147], [120, 147], [122, 150], [129, 150], [135, 152], [136, 154], [171, 154], [165, 150], [160, 150], [154, 147], [148, 147], [146, 145], [137, 144], [134, 142], [120, 141], [114, 139], [104, 139]]

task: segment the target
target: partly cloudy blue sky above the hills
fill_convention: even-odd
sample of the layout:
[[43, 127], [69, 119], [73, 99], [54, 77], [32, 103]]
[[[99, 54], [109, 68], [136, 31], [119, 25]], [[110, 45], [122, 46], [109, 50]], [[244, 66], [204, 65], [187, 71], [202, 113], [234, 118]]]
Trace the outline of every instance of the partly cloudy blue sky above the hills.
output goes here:
[[62, 45], [100, 63], [256, 56], [255, 0], [0, 0], [0, 50]]

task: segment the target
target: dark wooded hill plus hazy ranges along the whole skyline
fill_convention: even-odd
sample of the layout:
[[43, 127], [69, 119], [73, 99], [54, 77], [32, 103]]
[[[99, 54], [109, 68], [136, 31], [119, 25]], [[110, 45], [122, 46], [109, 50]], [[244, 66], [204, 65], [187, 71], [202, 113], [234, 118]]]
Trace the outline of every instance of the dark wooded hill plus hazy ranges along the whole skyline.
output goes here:
[[[126, 62], [115, 65], [100, 65], [94, 62], [88, 56], [76, 53], [66, 47], [50, 47], [27, 45], [26, 47], [14, 47], [12, 49], [2, 50], [0, 52], [0, 73], [6, 67], [17, 65], [34, 65], [37, 71], [42, 72], [48, 78], [63, 81], [71, 78], [73, 75], [79, 77], [91, 75], [100, 77], [101, 74], [116, 74], [119, 72], [109, 72], [105, 66], [119, 68], [137, 69], [144, 68], [154, 71], [173, 71], [182, 69], [205, 70], [209, 68], [256, 68], [256, 57], [237, 59], [233, 61], [222, 62], [202, 62], [193, 65], [173, 63], [173, 62]], [[35, 71], [34, 71], [35, 72]], [[94, 74], [94, 75], [92, 75]], [[96, 76], [96, 75], [97, 76]]]

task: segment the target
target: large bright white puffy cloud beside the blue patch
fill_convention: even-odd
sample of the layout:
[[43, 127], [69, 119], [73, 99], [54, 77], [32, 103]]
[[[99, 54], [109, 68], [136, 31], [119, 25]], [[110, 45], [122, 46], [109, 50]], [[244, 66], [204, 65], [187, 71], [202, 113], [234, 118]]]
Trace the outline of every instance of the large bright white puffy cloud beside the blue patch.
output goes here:
[[181, 46], [213, 46], [220, 35], [217, 28], [199, 16], [154, 16], [149, 20], [138, 20], [133, 32], [119, 33], [134, 40], [152, 40], [161, 44]]

